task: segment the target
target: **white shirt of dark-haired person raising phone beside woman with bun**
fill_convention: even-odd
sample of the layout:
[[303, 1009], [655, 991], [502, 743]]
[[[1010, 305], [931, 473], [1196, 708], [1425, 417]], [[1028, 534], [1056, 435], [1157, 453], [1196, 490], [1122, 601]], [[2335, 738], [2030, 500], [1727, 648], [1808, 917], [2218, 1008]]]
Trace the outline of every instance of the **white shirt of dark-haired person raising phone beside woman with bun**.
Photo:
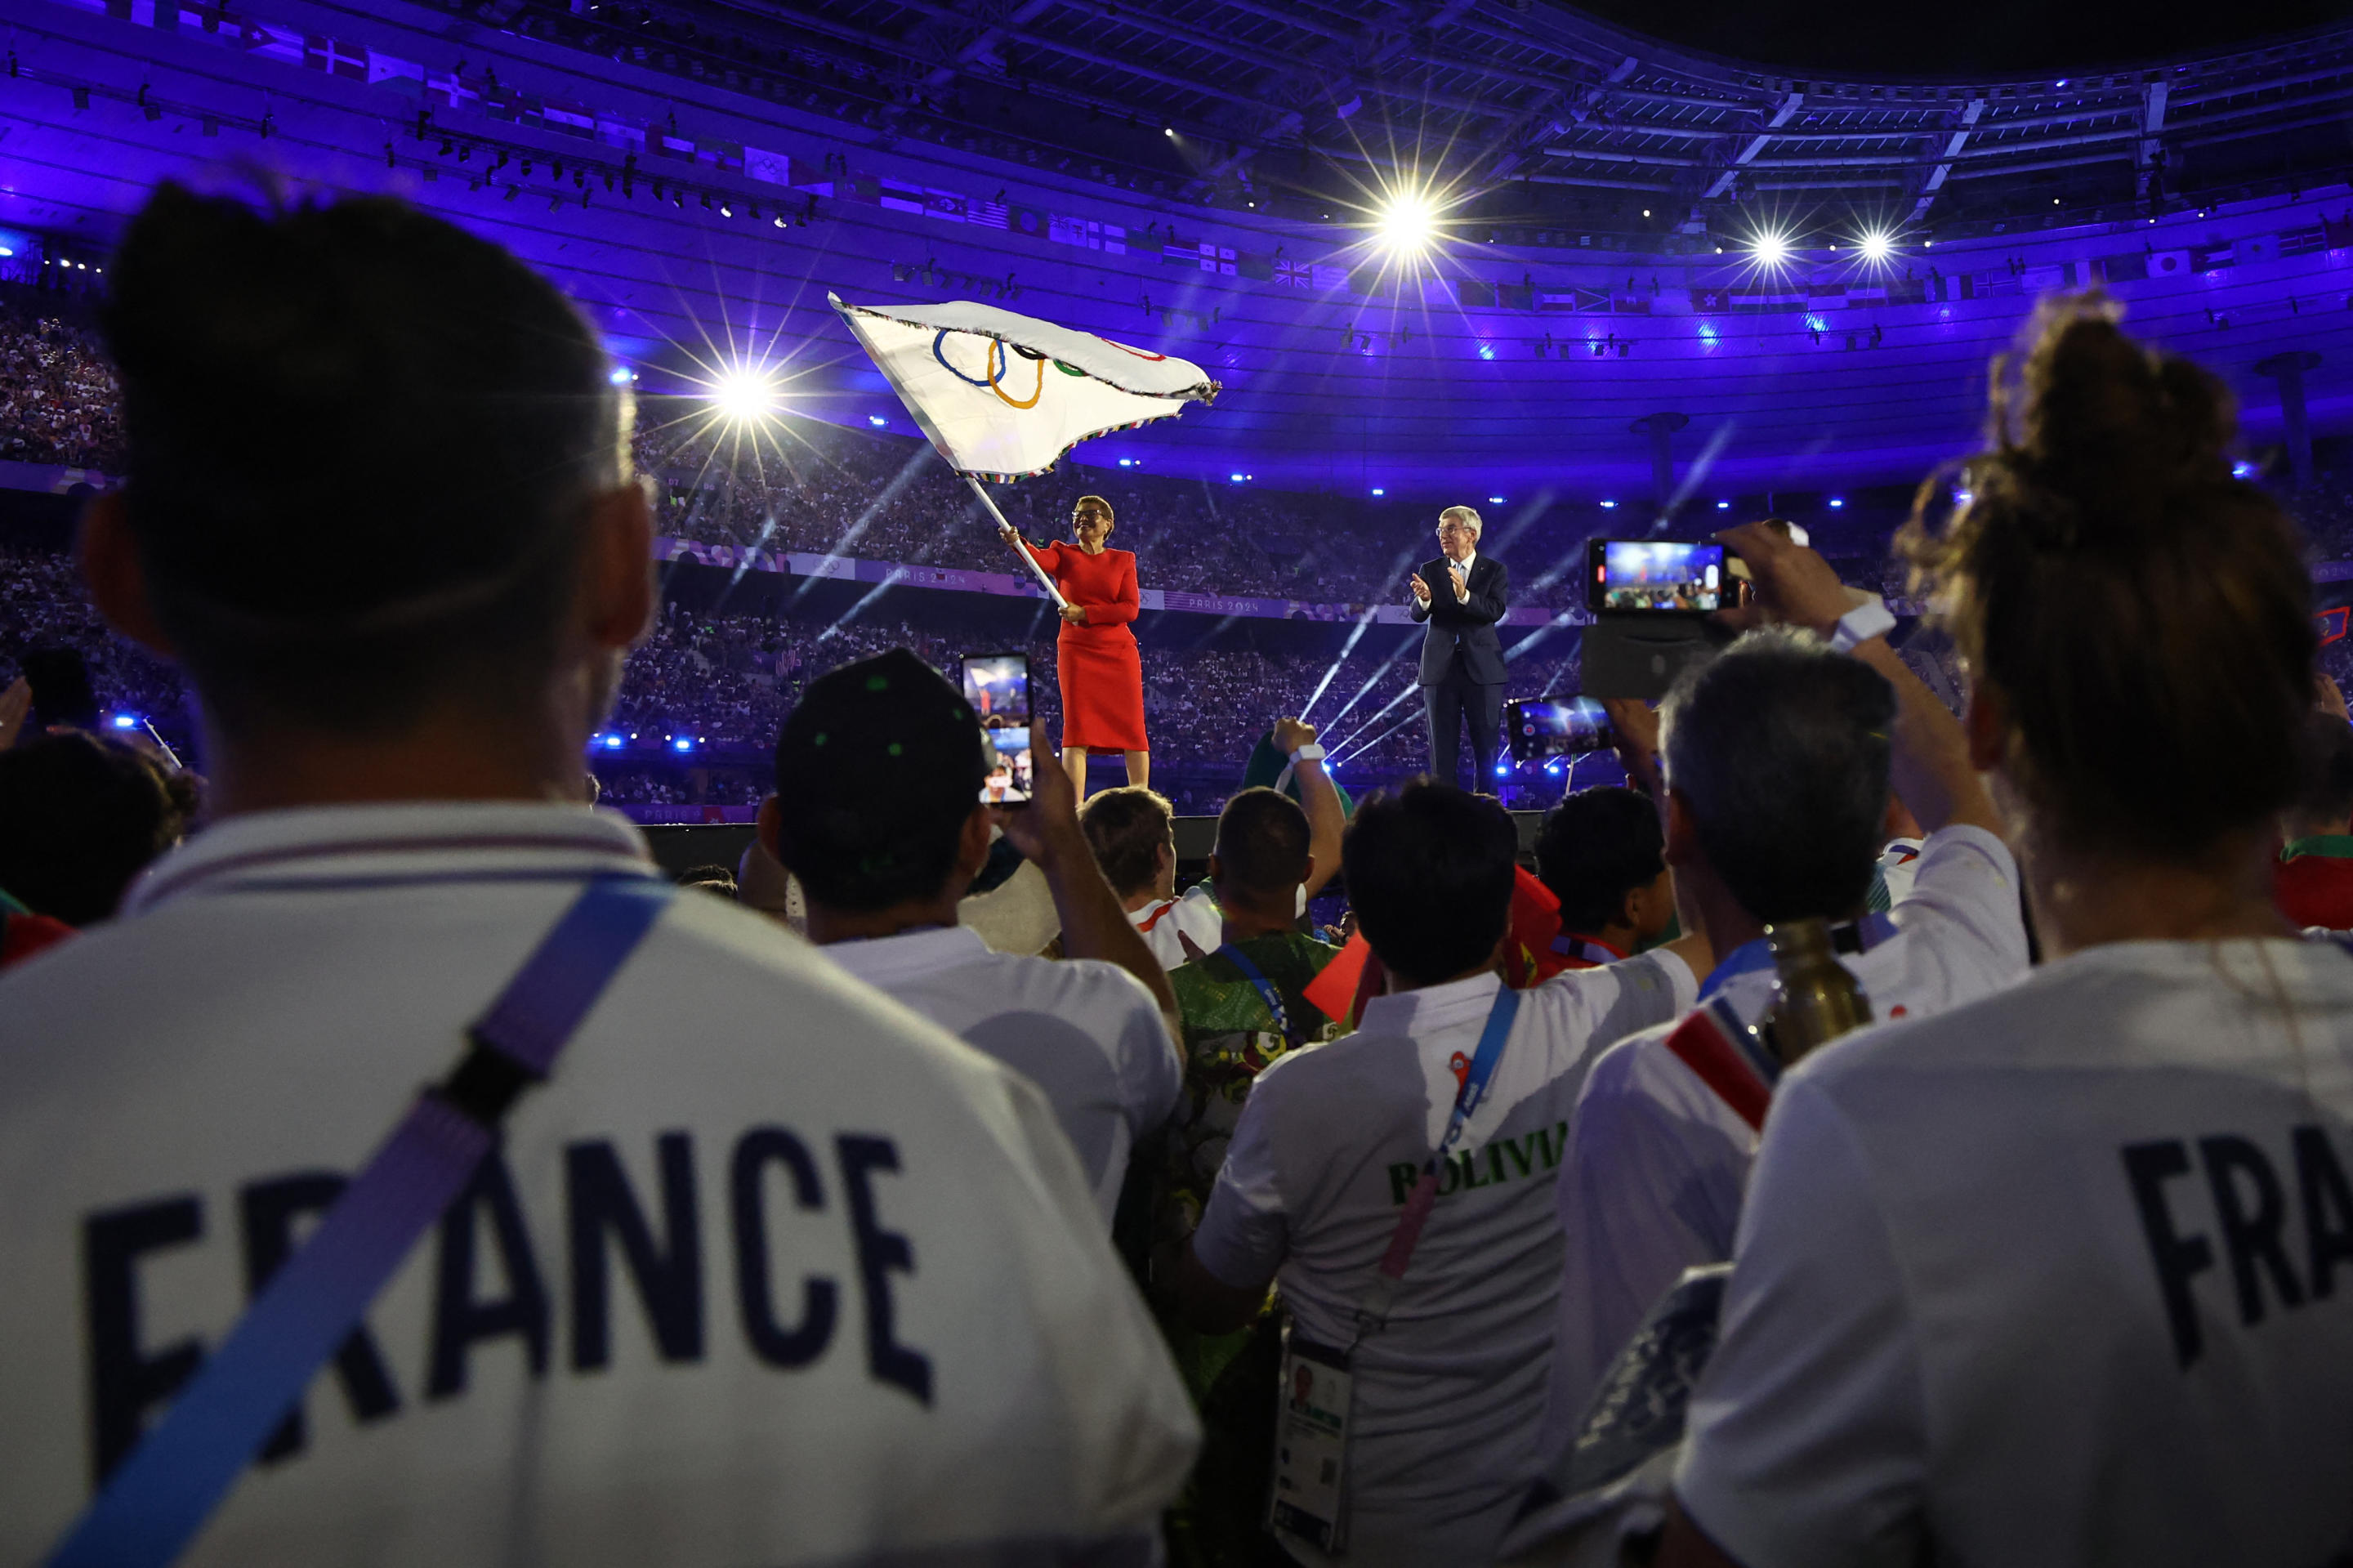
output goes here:
[[[2026, 977], [2009, 848], [1984, 829], [1948, 826], [1915, 866], [1908, 897], [1889, 911], [1894, 935], [1840, 958], [1880, 1019], [1946, 1012]], [[1732, 968], [1708, 984], [1744, 1022], [1762, 1019], [1769, 954], [1762, 968]], [[1567, 1255], [1544, 1453], [1574, 1441], [1602, 1373], [1668, 1285], [1694, 1264], [1732, 1257], [1758, 1135], [1668, 1050], [1673, 1029], [1612, 1045], [1577, 1102], [1558, 1182]]]

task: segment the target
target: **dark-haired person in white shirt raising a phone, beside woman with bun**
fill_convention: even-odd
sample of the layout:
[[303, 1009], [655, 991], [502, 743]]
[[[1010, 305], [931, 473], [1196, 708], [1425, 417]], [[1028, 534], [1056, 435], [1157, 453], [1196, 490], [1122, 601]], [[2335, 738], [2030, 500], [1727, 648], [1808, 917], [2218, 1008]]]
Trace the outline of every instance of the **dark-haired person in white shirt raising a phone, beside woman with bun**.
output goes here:
[[[1628, 765], [1652, 779], [1664, 730], [1666, 857], [1722, 956], [1699, 986], [1704, 1017], [1612, 1045], [1577, 1104], [1560, 1168], [1567, 1260], [1546, 1453], [1574, 1439], [1602, 1373], [1675, 1278], [1732, 1257], [1769, 1074], [1786, 1064], [1718, 1041], [1772, 1005], [1769, 923], [1838, 923], [1840, 963], [1882, 1019], [1944, 1012], [2026, 977], [2017, 862], [1960, 723], [1875, 622], [1852, 652], [1828, 645], [1854, 607], [1821, 556], [1765, 525], [1718, 537], [1755, 584], [1737, 614], [1821, 640], [1758, 631], [1689, 671], [1659, 716], [1612, 709]], [[1911, 897], [1866, 916], [1889, 779], [1927, 843]]]

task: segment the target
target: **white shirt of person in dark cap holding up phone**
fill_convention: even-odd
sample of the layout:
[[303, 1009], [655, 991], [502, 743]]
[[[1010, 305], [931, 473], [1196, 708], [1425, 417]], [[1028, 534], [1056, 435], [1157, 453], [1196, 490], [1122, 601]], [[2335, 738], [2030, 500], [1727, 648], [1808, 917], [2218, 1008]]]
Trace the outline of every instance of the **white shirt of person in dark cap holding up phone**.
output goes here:
[[1184, 1085], [1141, 979], [1089, 958], [993, 954], [965, 925], [819, 951], [1042, 1088], [1111, 1227], [1127, 1154], [1169, 1118]]

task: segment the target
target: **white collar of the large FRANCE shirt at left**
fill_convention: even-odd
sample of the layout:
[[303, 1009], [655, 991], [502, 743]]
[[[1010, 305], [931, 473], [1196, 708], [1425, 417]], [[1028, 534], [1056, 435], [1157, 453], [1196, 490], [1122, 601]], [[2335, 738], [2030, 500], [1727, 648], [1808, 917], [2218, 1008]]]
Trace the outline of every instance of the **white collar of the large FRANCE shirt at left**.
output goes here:
[[534, 800], [304, 805], [207, 826], [139, 873], [122, 916], [184, 895], [600, 873], [659, 876], [621, 812]]

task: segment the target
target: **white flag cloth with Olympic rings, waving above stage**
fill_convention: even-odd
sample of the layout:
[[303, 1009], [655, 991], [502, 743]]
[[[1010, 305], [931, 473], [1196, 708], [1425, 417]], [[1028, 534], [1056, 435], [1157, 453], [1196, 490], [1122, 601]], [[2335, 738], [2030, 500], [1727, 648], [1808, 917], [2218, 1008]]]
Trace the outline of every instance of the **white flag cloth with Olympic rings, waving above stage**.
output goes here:
[[1200, 365], [972, 299], [852, 306], [826, 294], [958, 473], [1016, 480], [1094, 436], [1217, 398]]

